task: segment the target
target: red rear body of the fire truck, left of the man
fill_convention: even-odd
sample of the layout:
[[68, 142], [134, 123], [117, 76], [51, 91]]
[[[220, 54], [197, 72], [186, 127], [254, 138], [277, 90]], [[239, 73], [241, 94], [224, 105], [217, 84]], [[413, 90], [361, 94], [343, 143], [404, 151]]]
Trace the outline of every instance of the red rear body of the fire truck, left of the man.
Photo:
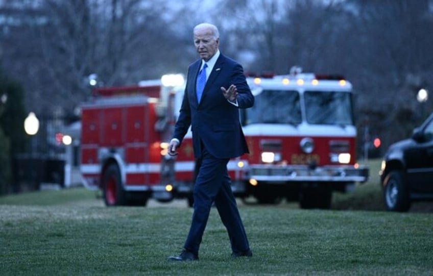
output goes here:
[[164, 78], [94, 89], [81, 107], [82, 180], [103, 191], [107, 206], [146, 205], [151, 196], [173, 199], [174, 160], [166, 158], [166, 141], [174, 123], [172, 88], [183, 77]]

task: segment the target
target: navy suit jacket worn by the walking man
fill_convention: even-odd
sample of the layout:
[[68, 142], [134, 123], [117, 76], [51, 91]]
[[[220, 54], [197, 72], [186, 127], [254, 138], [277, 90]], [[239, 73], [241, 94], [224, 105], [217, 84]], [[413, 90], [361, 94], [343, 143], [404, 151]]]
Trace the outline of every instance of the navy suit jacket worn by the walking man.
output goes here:
[[[216, 158], [233, 158], [249, 153], [245, 136], [239, 122], [239, 108], [254, 105], [254, 96], [245, 79], [244, 70], [236, 61], [220, 54], [197, 102], [196, 81], [202, 60], [189, 65], [187, 82], [174, 138], [182, 144], [191, 126], [194, 156], [201, 156], [202, 146]], [[230, 104], [221, 87], [237, 88], [238, 106]]]

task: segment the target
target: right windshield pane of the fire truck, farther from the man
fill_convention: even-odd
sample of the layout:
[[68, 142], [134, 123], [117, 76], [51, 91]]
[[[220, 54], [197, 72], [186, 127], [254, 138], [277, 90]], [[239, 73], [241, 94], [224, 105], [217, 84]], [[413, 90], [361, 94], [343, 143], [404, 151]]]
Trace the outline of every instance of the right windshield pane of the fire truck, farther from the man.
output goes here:
[[353, 125], [352, 93], [305, 91], [306, 120], [311, 124]]

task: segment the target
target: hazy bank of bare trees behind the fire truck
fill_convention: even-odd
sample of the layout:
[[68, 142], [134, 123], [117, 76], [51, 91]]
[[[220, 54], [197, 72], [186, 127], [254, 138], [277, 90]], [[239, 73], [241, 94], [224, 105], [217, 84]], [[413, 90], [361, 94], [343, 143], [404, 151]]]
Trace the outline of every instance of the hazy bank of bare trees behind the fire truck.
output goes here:
[[[343, 73], [357, 90], [358, 117], [407, 136], [418, 123], [421, 87], [433, 91], [433, 0], [14, 0], [0, 29], [4, 68], [22, 80], [27, 107], [70, 112], [104, 85], [184, 72], [197, 58], [192, 28], [220, 27], [224, 53], [247, 71]], [[169, 10], [170, 12], [167, 12]], [[2, 22], [0, 22], [1, 24]], [[425, 110], [433, 107], [431, 100]], [[392, 132], [388, 129], [392, 129]]]

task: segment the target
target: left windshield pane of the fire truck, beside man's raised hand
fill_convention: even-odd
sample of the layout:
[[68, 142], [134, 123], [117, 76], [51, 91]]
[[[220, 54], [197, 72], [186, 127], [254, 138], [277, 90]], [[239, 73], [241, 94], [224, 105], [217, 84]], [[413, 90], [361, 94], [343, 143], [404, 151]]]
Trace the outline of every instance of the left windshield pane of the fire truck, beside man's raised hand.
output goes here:
[[254, 106], [242, 113], [244, 124], [300, 124], [299, 93], [292, 90], [263, 90], [255, 95]]

